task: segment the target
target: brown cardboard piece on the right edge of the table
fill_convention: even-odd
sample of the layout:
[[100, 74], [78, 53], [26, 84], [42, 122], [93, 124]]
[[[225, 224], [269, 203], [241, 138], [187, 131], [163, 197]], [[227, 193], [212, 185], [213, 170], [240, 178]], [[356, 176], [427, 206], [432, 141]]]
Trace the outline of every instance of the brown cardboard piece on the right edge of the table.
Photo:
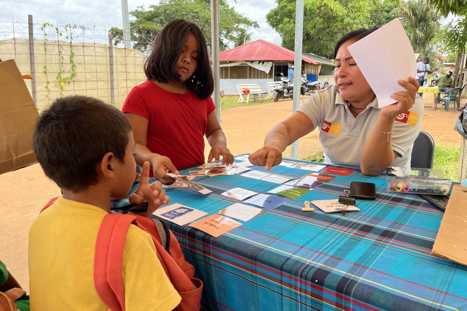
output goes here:
[[467, 265], [467, 187], [454, 185], [432, 252]]

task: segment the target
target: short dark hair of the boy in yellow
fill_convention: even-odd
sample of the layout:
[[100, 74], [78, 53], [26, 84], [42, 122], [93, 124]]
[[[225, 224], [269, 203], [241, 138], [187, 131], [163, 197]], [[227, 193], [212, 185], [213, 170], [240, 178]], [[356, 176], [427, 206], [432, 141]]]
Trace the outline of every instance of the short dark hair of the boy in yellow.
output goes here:
[[96, 165], [107, 152], [123, 161], [131, 124], [117, 108], [85, 96], [57, 99], [38, 118], [33, 149], [45, 175], [73, 192], [98, 182]]

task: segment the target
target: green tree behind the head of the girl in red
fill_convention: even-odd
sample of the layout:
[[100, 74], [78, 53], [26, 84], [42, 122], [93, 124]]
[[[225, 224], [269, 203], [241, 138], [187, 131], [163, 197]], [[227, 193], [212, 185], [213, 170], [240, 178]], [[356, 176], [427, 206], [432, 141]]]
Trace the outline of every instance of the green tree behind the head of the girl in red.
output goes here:
[[[170, 21], [185, 19], [198, 25], [205, 35], [207, 43], [211, 44], [211, 1], [210, 0], [161, 0], [157, 5], [137, 7], [130, 12], [131, 40], [134, 48], [149, 53], [151, 44]], [[227, 3], [219, 1], [219, 45], [221, 50], [228, 48], [230, 41], [237, 38], [242, 29], [258, 28], [258, 23], [248, 19]], [[123, 31], [111, 28], [114, 44], [123, 41]]]

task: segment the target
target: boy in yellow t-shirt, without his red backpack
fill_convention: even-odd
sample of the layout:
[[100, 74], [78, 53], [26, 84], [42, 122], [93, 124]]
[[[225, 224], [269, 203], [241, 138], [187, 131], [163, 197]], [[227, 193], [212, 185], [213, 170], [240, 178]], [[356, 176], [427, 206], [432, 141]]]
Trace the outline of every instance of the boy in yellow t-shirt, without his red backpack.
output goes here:
[[[33, 148], [63, 196], [29, 230], [31, 310], [109, 310], [94, 287], [94, 251], [112, 198], [127, 195], [134, 182], [131, 125], [98, 99], [64, 97], [38, 118]], [[149, 176], [148, 162], [142, 175]], [[149, 215], [170, 199], [157, 181], [142, 183], [131, 200], [148, 201]], [[122, 274], [127, 311], [172, 310], [180, 303], [150, 235], [134, 225], [125, 240]]]

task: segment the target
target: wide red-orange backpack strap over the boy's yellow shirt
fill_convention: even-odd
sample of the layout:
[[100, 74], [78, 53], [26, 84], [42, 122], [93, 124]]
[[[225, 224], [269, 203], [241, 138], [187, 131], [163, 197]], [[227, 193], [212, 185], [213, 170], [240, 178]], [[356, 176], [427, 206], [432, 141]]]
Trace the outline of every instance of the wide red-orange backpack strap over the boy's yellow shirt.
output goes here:
[[94, 286], [112, 311], [125, 311], [123, 247], [135, 215], [107, 214], [99, 227], [94, 253]]

